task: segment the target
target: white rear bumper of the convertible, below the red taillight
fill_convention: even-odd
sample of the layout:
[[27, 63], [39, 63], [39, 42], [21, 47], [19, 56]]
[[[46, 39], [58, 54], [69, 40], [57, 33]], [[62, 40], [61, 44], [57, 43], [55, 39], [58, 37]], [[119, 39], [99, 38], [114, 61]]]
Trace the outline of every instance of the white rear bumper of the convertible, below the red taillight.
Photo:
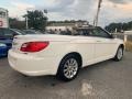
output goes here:
[[58, 68], [56, 57], [33, 57], [12, 50], [9, 51], [8, 61], [14, 70], [28, 76], [56, 75]]

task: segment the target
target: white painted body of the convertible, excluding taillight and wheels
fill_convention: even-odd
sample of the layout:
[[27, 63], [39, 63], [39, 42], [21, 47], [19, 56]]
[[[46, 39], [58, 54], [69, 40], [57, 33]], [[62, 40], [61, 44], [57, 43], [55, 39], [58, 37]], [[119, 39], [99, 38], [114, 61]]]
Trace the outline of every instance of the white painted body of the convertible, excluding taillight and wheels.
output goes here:
[[[21, 52], [26, 42], [45, 42], [50, 45], [40, 52]], [[56, 75], [61, 61], [69, 53], [78, 53], [82, 58], [82, 67], [114, 57], [123, 41], [92, 36], [72, 35], [18, 35], [13, 40], [8, 58], [10, 66], [28, 76]]]

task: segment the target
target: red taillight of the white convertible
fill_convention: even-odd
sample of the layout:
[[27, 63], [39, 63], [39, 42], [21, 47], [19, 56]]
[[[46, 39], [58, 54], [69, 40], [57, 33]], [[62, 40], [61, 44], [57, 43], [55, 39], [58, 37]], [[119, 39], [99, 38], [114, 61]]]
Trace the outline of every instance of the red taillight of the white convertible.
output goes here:
[[22, 44], [22, 52], [40, 52], [48, 46], [50, 42], [28, 42]]

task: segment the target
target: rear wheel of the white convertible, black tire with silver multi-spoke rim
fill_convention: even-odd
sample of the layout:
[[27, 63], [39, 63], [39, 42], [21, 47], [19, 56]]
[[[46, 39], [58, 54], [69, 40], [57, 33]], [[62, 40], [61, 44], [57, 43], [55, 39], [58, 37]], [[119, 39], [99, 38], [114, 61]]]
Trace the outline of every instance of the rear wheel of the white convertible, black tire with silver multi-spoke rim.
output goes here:
[[61, 62], [57, 77], [64, 81], [73, 80], [76, 78], [79, 67], [79, 59], [74, 55], [68, 55]]

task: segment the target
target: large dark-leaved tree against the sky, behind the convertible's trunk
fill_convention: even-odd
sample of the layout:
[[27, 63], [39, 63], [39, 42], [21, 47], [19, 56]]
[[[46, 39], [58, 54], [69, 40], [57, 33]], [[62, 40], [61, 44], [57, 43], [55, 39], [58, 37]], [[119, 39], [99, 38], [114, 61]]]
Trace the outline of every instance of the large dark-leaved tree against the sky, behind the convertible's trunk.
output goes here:
[[30, 29], [44, 31], [47, 24], [47, 18], [44, 12], [35, 10], [28, 11], [28, 23]]

